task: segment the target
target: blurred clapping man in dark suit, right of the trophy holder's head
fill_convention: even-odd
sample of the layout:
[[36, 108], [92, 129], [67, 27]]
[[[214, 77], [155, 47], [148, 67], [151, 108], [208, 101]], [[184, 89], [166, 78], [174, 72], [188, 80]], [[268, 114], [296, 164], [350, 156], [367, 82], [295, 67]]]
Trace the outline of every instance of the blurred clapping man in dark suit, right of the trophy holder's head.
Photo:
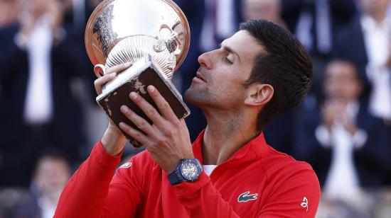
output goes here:
[[304, 110], [295, 128], [295, 157], [314, 167], [323, 196], [352, 201], [360, 188], [384, 185], [390, 137], [382, 120], [360, 103], [363, 84], [351, 62], [330, 62], [323, 89], [321, 110]]

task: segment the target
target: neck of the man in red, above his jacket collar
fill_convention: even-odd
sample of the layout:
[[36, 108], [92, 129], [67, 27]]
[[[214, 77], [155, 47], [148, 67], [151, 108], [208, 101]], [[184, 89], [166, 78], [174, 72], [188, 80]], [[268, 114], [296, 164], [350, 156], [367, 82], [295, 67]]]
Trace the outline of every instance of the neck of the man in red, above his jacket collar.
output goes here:
[[[257, 113], [205, 113], [203, 164], [219, 165], [257, 136]], [[250, 121], [252, 120], [252, 121]]]

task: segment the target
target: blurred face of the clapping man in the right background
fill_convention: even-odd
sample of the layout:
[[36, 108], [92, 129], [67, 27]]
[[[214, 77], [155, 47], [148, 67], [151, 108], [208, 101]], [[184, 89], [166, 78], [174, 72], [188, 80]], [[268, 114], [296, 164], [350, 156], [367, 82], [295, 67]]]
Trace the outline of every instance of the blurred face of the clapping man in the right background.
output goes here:
[[344, 62], [333, 62], [326, 67], [324, 89], [327, 98], [350, 102], [360, 96], [361, 85], [353, 66]]

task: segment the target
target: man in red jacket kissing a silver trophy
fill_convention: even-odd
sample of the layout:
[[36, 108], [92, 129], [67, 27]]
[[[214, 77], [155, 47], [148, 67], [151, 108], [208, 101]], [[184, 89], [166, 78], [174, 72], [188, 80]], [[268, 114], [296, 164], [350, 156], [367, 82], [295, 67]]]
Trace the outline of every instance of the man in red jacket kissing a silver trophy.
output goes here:
[[[193, 147], [159, 91], [147, 88], [159, 113], [130, 93], [154, 125], [122, 106], [146, 134], [119, 126], [147, 151], [113, 177], [126, 139], [110, 122], [55, 217], [314, 217], [320, 188], [311, 166], [275, 151], [262, 134], [309, 90], [311, 60], [299, 41], [269, 21], [247, 21], [198, 62], [185, 98], [203, 110], [208, 126]], [[114, 76], [97, 79], [98, 93]]]

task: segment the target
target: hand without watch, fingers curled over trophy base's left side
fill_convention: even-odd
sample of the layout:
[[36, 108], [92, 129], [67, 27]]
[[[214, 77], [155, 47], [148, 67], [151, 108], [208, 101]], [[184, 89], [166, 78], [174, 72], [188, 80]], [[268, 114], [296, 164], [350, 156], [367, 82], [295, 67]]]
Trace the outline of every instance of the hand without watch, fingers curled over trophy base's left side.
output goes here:
[[[97, 91], [97, 94], [100, 95], [102, 93], [102, 86], [114, 79], [114, 77], [117, 76], [117, 72], [121, 72], [130, 66], [130, 63], [124, 63], [107, 69], [105, 76], [96, 79], [94, 82], [95, 91]], [[122, 132], [119, 131], [114, 122], [109, 118], [109, 125], [107, 126], [107, 130], [103, 135], [101, 142], [107, 153], [111, 154], [112, 156], [117, 156], [124, 149], [127, 139], [124, 137]]]

